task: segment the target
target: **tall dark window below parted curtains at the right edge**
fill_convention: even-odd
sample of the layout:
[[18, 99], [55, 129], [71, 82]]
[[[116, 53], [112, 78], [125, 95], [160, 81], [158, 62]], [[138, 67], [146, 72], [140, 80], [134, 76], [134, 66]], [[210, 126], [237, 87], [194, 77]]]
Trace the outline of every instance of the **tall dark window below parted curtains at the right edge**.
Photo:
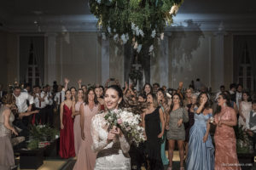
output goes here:
[[248, 90], [253, 90], [253, 70], [250, 62], [247, 43], [245, 43], [239, 66], [238, 82]]

